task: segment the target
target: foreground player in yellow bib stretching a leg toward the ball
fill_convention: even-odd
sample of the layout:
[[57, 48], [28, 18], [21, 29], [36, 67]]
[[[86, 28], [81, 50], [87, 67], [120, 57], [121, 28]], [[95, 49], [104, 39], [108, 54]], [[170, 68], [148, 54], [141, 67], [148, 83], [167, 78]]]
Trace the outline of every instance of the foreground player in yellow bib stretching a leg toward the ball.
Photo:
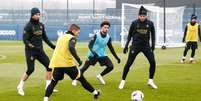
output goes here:
[[89, 92], [93, 93], [94, 98], [97, 99], [100, 95], [99, 91], [95, 90], [88, 81], [80, 74], [79, 69], [76, 67], [74, 59], [81, 66], [82, 61], [75, 50], [76, 37], [79, 35], [80, 27], [76, 24], [72, 24], [67, 34], [61, 36], [57, 40], [57, 45], [50, 61], [49, 67], [54, 68], [53, 79], [50, 85], [46, 89], [44, 101], [48, 101], [48, 98], [53, 92], [54, 87], [59, 80], [64, 78], [64, 74], [67, 74], [72, 80], [78, 80], [82, 86]]

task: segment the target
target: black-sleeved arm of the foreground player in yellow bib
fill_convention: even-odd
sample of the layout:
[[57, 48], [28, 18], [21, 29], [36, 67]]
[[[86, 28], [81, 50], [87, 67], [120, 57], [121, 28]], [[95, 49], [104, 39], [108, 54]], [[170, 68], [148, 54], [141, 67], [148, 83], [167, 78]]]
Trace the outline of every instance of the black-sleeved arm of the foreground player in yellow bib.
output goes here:
[[77, 52], [75, 50], [75, 44], [76, 44], [76, 38], [71, 38], [68, 45], [70, 53], [79, 64], [82, 64], [82, 61], [80, 60], [80, 57], [77, 55]]

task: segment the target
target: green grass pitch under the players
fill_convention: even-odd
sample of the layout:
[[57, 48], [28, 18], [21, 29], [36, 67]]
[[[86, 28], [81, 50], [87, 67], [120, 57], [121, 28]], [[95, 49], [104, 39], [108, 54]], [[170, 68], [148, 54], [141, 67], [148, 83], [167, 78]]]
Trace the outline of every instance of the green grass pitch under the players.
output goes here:
[[[147, 83], [149, 64], [146, 58], [139, 54], [136, 62], [132, 65], [125, 89], [119, 90], [118, 85], [121, 80], [123, 67], [127, 60], [127, 54], [122, 54], [120, 43], [114, 43], [115, 50], [121, 58], [121, 64], [108, 51], [115, 69], [104, 77], [106, 85], [102, 86], [96, 80], [96, 75], [104, 68], [97, 64], [88, 69], [85, 73], [87, 80], [102, 95], [97, 101], [129, 101], [130, 94], [134, 90], [141, 90], [144, 101], [200, 101], [201, 98], [201, 51], [197, 50], [196, 64], [180, 64], [183, 48], [173, 48], [167, 50], [156, 49], [155, 57], [157, 69], [155, 83], [157, 90], [149, 88]], [[199, 47], [201, 47], [199, 45]], [[84, 61], [87, 54], [87, 43], [77, 44], [78, 54]], [[53, 50], [45, 45], [45, 51], [51, 57]], [[189, 52], [190, 54], [190, 52]], [[188, 55], [189, 56], [189, 55]], [[24, 57], [24, 45], [21, 41], [0, 41], [0, 101], [42, 101], [44, 96], [44, 67], [36, 62], [35, 72], [25, 84], [25, 96], [19, 96], [16, 86], [20, 76], [26, 70]], [[66, 77], [57, 85], [58, 93], [50, 97], [50, 101], [93, 101], [93, 96], [85, 91], [79, 84], [76, 87], [71, 85], [71, 80]]]

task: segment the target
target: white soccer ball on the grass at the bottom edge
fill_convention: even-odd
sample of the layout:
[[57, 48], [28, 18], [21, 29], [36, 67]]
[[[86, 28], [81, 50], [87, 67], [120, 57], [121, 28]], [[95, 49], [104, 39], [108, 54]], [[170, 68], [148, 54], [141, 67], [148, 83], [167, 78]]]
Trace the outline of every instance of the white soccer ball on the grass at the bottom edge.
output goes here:
[[143, 101], [144, 94], [140, 90], [133, 91], [131, 94], [132, 101]]

